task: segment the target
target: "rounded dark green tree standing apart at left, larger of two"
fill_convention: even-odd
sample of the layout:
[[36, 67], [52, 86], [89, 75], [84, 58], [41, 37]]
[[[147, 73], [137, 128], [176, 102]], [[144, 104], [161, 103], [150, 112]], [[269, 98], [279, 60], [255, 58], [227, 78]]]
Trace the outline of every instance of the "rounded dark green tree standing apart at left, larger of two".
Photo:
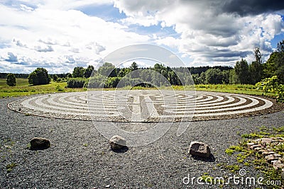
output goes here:
[[51, 81], [48, 71], [44, 68], [37, 68], [28, 76], [28, 84], [43, 85]]

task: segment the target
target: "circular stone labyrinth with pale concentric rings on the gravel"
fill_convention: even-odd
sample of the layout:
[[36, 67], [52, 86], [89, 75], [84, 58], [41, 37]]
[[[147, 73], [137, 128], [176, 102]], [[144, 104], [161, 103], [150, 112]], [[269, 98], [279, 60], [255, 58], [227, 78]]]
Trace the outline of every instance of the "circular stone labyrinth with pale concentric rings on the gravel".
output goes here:
[[265, 98], [204, 91], [116, 90], [52, 93], [9, 103], [16, 112], [48, 118], [112, 122], [178, 122], [270, 113]]

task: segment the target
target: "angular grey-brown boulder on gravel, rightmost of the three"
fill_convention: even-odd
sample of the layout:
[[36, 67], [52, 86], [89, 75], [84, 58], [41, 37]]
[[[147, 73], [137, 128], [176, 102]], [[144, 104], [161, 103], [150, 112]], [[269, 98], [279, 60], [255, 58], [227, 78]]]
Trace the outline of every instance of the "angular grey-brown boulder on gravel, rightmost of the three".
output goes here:
[[190, 154], [192, 156], [200, 156], [202, 158], [209, 158], [211, 154], [211, 150], [208, 144], [205, 144], [203, 142], [194, 141], [190, 143]]

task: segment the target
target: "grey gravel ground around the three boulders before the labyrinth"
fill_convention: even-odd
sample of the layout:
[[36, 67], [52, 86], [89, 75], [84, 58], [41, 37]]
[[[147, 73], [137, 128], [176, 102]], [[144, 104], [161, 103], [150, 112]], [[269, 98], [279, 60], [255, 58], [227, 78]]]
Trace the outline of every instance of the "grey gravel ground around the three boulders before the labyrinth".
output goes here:
[[[177, 124], [160, 139], [143, 147], [129, 147], [125, 153], [111, 151], [107, 139], [90, 121], [60, 120], [26, 116], [9, 110], [0, 100], [0, 188], [219, 188], [217, 185], [185, 185], [182, 178], [233, 176], [217, 164], [236, 164], [234, 156], [224, 153], [237, 144], [241, 134], [258, 127], [284, 126], [284, 113], [251, 118], [191, 122], [180, 137]], [[18, 98], [17, 98], [18, 99]], [[99, 124], [109, 125], [109, 122]], [[128, 123], [124, 123], [127, 127]], [[141, 123], [140, 123], [141, 124]], [[150, 123], [143, 123], [148, 125]], [[142, 124], [142, 127], [143, 127]], [[30, 151], [33, 137], [50, 139], [52, 147]], [[11, 139], [11, 141], [7, 141]], [[187, 154], [190, 142], [198, 140], [212, 147], [214, 159], [193, 159]], [[17, 166], [9, 173], [6, 165]], [[260, 172], [246, 168], [247, 176]], [[225, 185], [224, 188], [256, 188], [249, 185]]]

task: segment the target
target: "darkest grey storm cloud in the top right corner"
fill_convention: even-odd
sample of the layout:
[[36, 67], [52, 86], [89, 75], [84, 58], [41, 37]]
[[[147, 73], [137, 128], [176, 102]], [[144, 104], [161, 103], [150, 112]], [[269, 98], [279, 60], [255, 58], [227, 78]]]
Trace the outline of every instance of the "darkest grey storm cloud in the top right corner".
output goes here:
[[224, 1], [222, 10], [226, 13], [237, 13], [241, 16], [280, 11], [284, 9], [282, 0], [231, 0]]

